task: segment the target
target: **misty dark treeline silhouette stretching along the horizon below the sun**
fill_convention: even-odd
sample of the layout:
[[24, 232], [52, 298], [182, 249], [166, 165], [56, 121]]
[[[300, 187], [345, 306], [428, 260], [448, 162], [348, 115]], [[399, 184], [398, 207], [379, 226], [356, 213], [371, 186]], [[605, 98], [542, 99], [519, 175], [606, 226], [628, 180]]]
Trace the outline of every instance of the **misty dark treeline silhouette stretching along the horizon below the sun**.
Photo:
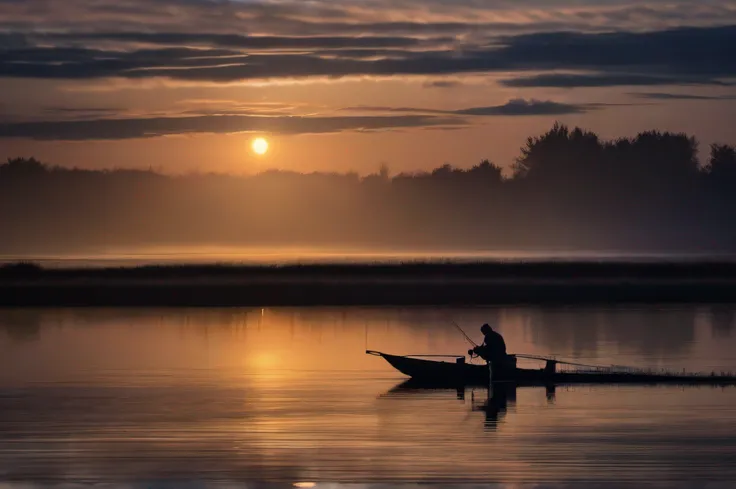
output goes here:
[[390, 176], [0, 165], [0, 253], [147, 245], [363, 249], [736, 250], [736, 148], [703, 161], [686, 134], [604, 141], [555, 124], [512, 175], [470, 169]]

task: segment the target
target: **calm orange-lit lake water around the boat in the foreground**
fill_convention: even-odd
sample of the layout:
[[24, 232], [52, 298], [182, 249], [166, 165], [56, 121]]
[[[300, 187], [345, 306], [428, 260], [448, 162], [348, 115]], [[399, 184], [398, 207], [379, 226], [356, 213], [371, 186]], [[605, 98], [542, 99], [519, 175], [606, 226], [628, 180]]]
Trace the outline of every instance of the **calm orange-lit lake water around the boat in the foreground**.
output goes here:
[[396, 388], [364, 353], [462, 354], [454, 320], [476, 340], [496, 325], [514, 353], [736, 371], [735, 311], [0, 311], [0, 488], [736, 482], [736, 388], [489, 402]]

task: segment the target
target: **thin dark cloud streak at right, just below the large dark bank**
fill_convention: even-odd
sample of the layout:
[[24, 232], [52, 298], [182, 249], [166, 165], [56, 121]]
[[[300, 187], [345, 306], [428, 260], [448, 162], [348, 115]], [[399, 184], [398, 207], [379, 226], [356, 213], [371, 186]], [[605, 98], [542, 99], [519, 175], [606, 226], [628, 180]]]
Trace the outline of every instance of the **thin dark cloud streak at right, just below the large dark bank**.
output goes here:
[[514, 88], [579, 88], [616, 86], [658, 85], [721, 85], [730, 83], [710, 77], [661, 76], [642, 74], [595, 73], [595, 74], [542, 74], [500, 80], [506, 87]]

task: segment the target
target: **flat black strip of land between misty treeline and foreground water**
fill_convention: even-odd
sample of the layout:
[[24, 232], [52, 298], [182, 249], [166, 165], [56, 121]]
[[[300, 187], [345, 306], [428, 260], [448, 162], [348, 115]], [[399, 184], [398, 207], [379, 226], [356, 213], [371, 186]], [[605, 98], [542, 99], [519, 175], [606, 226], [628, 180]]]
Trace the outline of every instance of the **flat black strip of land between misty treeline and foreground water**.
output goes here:
[[736, 302], [736, 263], [0, 267], [0, 307]]

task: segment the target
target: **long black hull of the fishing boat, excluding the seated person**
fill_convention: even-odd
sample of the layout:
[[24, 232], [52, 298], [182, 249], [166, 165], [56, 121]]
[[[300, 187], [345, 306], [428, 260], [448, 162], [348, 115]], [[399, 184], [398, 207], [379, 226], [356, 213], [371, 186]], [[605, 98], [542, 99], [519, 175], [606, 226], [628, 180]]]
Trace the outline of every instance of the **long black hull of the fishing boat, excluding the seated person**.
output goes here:
[[700, 384], [736, 385], [736, 376], [673, 375], [646, 372], [548, 372], [544, 369], [514, 368], [493, 375], [487, 365], [456, 363], [372, 352], [383, 357], [392, 367], [411, 379], [432, 385], [470, 386], [491, 382], [519, 385], [559, 384]]

